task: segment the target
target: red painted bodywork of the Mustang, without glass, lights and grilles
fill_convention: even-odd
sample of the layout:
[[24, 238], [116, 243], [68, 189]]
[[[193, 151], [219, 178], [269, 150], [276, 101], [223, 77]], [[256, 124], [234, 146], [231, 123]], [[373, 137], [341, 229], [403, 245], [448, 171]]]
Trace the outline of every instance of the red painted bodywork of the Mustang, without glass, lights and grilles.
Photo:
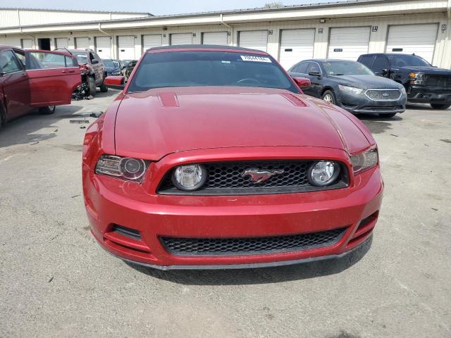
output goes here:
[[[89, 127], [83, 147], [83, 193], [91, 231], [113, 255], [161, 269], [261, 266], [340, 256], [371, 235], [381, 208], [383, 181], [378, 165], [353, 175], [350, 156], [376, 146], [353, 115], [282, 89], [127, 90]], [[97, 175], [102, 154], [151, 162], [137, 184]], [[158, 192], [163, 177], [177, 165], [315, 159], [343, 163], [348, 186], [232, 196]], [[113, 231], [114, 225], [139, 231], [141, 239]], [[161, 242], [161, 237], [270, 237], [341, 228], [346, 228], [345, 234], [333, 245], [293, 252], [180, 256]]]

